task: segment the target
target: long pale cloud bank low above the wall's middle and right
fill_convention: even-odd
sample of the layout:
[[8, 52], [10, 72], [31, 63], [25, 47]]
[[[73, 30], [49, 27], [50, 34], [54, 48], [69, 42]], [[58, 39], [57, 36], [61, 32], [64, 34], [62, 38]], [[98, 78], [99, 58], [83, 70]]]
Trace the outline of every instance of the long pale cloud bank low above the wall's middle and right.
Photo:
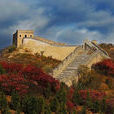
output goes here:
[[69, 44], [80, 44], [85, 39], [98, 40], [102, 42], [102, 38], [105, 36], [99, 31], [90, 31], [86, 28], [77, 28], [75, 26], [65, 26], [65, 27], [52, 27], [47, 32], [46, 35], [55, 41], [66, 42]]

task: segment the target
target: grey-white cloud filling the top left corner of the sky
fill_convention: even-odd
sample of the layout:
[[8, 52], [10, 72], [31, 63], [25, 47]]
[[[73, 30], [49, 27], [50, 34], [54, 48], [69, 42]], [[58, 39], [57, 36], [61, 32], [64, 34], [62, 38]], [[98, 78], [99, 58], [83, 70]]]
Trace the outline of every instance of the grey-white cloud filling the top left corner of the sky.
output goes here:
[[0, 21], [5, 21], [9, 18], [24, 16], [29, 7], [18, 0], [1, 0], [0, 1]]

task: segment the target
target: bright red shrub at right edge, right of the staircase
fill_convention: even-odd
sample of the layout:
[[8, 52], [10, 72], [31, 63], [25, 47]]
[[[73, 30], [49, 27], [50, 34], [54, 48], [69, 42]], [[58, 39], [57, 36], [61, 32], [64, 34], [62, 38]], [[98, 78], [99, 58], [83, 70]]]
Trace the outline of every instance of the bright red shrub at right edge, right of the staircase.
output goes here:
[[93, 65], [93, 68], [104, 75], [114, 76], [114, 61], [111, 59], [106, 59], [102, 62], [98, 62]]

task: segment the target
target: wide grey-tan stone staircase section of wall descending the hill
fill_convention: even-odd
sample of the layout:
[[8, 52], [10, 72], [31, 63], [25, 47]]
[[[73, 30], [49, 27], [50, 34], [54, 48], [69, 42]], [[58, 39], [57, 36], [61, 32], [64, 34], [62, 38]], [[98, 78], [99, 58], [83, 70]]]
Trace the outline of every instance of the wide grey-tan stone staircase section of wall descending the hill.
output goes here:
[[[68, 86], [72, 85], [73, 80], [78, 81], [78, 72], [77, 69], [80, 65], [87, 65], [89, 62], [97, 55], [108, 57], [104, 55], [104, 50], [98, 48], [91, 42], [87, 42], [86, 45], [89, 46], [89, 49], [84, 49], [82, 46], [79, 46], [72, 52], [57, 68], [53, 70], [53, 77], [58, 79], [61, 82], [64, 82]], [[92, 50], [96, 48], [96, 50]], [[90, 54], [89, 51], [92, 50]]]

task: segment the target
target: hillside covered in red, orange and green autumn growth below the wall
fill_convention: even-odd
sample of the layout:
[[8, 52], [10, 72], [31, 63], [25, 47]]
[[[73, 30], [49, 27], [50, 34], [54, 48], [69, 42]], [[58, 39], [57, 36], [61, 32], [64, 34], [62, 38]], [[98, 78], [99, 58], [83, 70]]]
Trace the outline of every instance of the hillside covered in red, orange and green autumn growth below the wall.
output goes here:
[[92, 70], [80, 66], [79, 81], [71, 87], [45, 73], [45, 66], [52, 69], [60, 62], [28, 50], [6, 49], [0, 58], [1, 112], [113, 114], [114, 61], [99, 62]]

